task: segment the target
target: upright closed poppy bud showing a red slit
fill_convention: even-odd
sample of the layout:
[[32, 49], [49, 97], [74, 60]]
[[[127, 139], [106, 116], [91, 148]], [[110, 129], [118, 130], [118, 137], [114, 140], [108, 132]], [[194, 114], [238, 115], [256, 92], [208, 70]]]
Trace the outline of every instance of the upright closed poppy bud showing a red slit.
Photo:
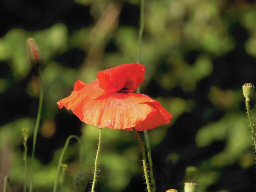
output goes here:
[[26, 42], [27, 60], [33, 67], [38, 67], [43, 64], [42, 51], [38, 47], [33, 38], [28, 38]]

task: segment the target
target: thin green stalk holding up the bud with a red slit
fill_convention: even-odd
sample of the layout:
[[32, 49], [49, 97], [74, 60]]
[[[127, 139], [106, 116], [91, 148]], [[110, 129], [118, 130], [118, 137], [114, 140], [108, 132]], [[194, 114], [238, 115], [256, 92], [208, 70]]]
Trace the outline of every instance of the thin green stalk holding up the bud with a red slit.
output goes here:
[[42, 80], [42, 75], [41, 75], [41, 69], [39, 66], [37, 66], [37, 71], [38, 71], [41, 85], [40, 85], [39, 107], [38, 107], [36, 126], [35, 126], [34, 136], [33, 136], [33, 149], [32, 149], [31, 168], [30, 168], [31, 176], [30, 176], [29, 192], [33, 191], [33, 162], [34, 162], [34, 158], [35, 158], [36, 138], [37, 138], [39, 122], [41, 119], [41, 112], [42, 112], [42, 105], [43, 105], [43, 94], [44, 94], [43, 80]]

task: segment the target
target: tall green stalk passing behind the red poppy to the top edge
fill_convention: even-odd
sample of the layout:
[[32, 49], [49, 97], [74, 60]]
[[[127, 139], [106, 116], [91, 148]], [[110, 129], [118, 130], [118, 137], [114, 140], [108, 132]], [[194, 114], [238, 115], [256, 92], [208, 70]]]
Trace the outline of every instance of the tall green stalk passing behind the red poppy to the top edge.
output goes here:
[[[137, 63], [140, 63], [140, 58], [141, 58], [143, 30], [144, 30], [144, 0], [141, 0], [140, 30], [139, 30], [139, 53], [138, 53]], [[140, 86], [137, 89], [137, 93], [140, 93]], [[143, 131], [143, 133], [144, 133], [146, 147], [147, 147], [147, 156], [148, 156], [148, 162], [149, 162], [149, 167], [150, 167], [150, 180], [151, 180], [151, 184], [152, 184], [152, 191], [155, 192], [156, 191], [156, 184], [155, 184], [155, 178], [154, 178], [154, 174], [153, 174], [153, 162], [152, 162], [152, 158], [151, 158], [151, 147], [150, 147], [150, 143], [149, 143], [148, 131], [145, 130], [145, 131]]]

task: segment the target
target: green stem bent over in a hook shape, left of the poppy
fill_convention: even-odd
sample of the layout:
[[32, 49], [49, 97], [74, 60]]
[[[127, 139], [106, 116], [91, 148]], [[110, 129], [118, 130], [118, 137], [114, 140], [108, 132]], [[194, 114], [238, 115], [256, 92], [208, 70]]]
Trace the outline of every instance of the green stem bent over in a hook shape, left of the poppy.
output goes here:
[[79, 146], [80, 146], [80, 169], [81, 169], [81, 160], [82, 160], [82, 143], [81, 143], [81, 140], [79, 139], [79, 137], [75, 136], [75, 135], [70, 135], [67, 140], [66, 140], [66, 143], [64, 145], [64, 148], [62, 149], [62, 152], [61, 152], [61, 155], [60, 155], [60, 159], [59, 159], [59, 163], [58, 163], [58, 167], [57, 167], [57, 174], [56, 174], [56, 177], [55, 177], [55, 181], [54, 181], [54, 186], [53, 186], [53, 192], [57, 192], [57, 185], [58, 185], [58, 180], [59, 180], [59, 176], [60, 176], [60, 168], [61, 168], [61, 163], [63, 161], [63, 157], [64, 157], [64, 154], [68, 148], [68, 144], [69, 144], [69, 141], [70, 139], [72, 138], [76, 138], [78, 143], [79, 143]]

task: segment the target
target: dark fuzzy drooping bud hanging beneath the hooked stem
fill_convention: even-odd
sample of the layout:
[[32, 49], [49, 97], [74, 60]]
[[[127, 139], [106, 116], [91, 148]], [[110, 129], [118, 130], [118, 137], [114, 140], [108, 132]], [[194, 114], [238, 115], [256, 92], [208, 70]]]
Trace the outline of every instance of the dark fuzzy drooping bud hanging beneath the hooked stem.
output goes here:
[[74, 177], [74, 191], [84, 192], [88, 184], [87, 175], [83, 171], [78, 171]]

